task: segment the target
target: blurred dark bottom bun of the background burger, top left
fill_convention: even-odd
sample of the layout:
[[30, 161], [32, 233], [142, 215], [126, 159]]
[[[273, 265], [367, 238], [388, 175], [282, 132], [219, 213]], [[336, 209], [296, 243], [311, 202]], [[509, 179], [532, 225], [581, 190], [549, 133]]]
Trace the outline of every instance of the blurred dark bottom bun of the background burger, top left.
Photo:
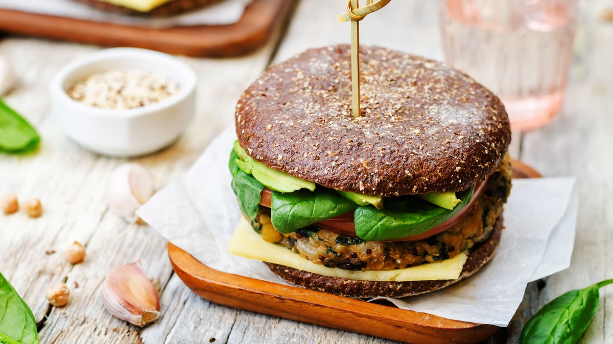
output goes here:
[[190, 10], [199, 9], [200, 7], [214, 4], [221, 0], [172, 0], [166, 4], [162, 4], [149, 12], [140, 12], [137, 10], [129, 9], [128, 7], [118, 6], [110, 4], [109, 2], [102, 0], [77, 0], [84, 2], [91, 7], [94, 7], [105, 12], [123, 14], [123, 15], [140, 15], [147, 17], [167, 17]]

